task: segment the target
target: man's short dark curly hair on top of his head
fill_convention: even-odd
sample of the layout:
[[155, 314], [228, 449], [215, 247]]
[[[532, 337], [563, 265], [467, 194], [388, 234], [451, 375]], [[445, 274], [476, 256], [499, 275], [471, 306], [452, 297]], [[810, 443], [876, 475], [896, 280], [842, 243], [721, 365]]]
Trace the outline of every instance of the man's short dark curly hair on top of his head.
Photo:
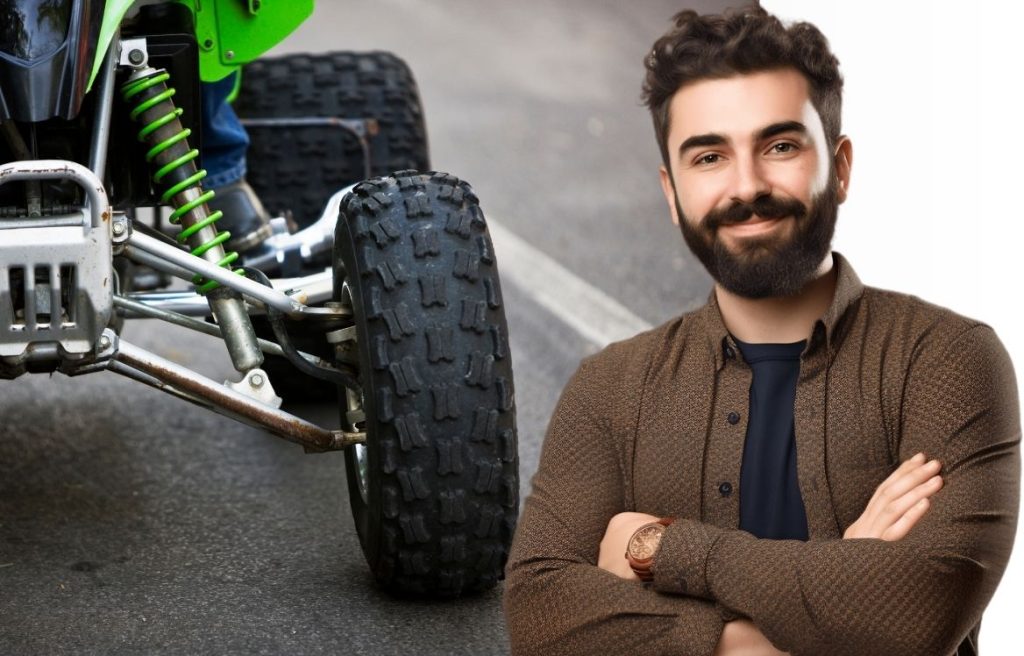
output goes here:
[[669, 160], [669, 104], [683, 85], [734, 75], [796, 69], [807, 78], [811, 103], [821, 117], [829, 146], [840, 135], [843, 76], [828, 41], [810, 23], [786, 28], [761, 7], [724, 14], [680, 11], [674, 27], [654, 42], [645, 62], [643, 101], [654, 120], [654, 134], [666, 168]]

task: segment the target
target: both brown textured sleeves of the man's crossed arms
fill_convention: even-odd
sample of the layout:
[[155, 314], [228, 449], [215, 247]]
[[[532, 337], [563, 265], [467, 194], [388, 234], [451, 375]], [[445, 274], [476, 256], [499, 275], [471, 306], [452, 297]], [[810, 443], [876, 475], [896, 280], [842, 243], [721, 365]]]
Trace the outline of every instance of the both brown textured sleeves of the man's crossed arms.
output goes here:
[[1009, 557], [1019, 486], [1016, 386], [989, 329], [910, 374], [899, 458], [938, 458], [944, 488], [902, 539], [759, 540], [677, 519], [653, 589], [597, 566], [609, 520], [644, 510], [626, 506], [613, 368], [585, 363], [552, 420], [507, 571], [514, 653], [710, 656], [724, 618], [739, 617], [794, 656], [936, 656], [978, 623]]

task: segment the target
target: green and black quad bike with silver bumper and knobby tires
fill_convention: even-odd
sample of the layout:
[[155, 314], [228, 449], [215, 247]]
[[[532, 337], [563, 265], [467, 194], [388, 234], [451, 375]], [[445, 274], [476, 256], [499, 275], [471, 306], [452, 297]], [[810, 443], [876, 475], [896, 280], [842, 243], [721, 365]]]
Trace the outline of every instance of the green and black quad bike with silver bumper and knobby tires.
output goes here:
[[[400, 59], [257, 59], [311, 11], [312, 0], [0, 2], [0, 379], [113, 371], [308, 452], [344, 450], [383, 586], [486, 589], [519, 501], [486, 222], [466, 182], [428, 172]], [[203, 185], [199, 117], [201, 84], [243, 64], [248, 179], [274, 218], [240, 256]], [[138, 318], [222, 339], [239, 380], [132, 345], [122, 327]], [[337, 404], [339, 424], [287, 410], [310, 400]]]

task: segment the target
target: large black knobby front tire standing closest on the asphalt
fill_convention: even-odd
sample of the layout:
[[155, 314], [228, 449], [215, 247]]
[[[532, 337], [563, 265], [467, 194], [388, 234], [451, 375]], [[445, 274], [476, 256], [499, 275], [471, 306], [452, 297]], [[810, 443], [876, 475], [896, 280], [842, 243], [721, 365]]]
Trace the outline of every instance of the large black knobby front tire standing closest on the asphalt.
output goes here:
[[470, 186], [395, 176], [359, 184], [335, 234], [335, 297], [347, 281], [367, 416], [367, 498], [351, 448], [349, 498], [381, 585], [456, 597], [497, 583], [515, 530], [508, 329]]

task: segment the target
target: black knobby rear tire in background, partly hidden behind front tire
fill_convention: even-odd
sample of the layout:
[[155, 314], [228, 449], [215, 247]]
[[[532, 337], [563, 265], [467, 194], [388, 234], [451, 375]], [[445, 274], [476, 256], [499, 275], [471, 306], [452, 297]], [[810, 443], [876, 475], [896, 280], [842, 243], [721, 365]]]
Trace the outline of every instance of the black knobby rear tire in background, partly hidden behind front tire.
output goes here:
[[[243, 119], [376, 119], [371, 177], [430, 169], [419, 89], [390, 52], [289, 54], [243, 71], [234, 101]], [[330, 127], [250, 127], [247, 178], [273, 216], [291, 211], [306, 226], [338, 189], [367, 177], [362, 150], [349, 132]]]

